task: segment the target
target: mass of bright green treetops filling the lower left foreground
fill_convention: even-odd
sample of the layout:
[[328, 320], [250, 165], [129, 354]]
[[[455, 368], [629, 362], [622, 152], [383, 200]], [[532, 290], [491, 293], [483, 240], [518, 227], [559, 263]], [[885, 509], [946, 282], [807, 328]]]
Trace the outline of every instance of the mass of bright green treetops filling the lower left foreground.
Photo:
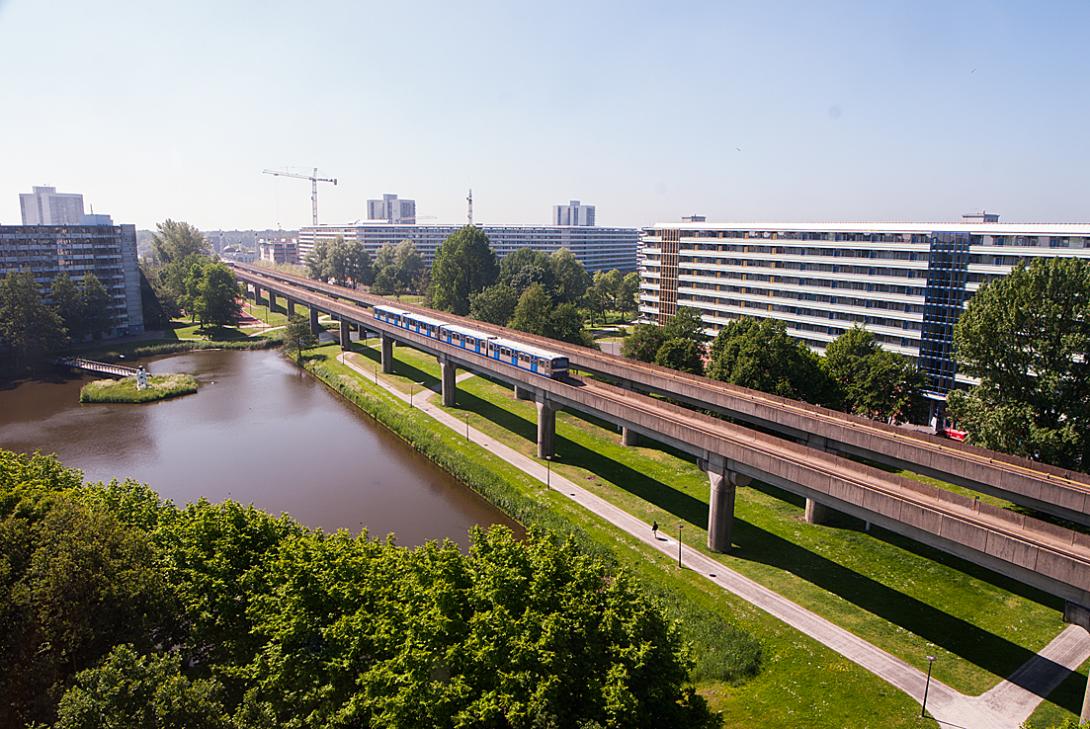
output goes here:
[[407, 549], [7, 451], [0, 659], [2, 726], [717, 725], [677, 627], [571, 540]]

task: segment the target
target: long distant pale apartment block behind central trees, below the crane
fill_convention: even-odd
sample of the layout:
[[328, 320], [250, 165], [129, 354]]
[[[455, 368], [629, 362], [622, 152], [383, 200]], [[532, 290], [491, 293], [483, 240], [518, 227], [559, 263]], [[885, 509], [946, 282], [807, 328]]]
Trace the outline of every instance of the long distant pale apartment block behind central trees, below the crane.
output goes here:
[[[635, 270], [635, 247], [639, 232], [635, 228], [597, 228], [580, 226], [477, 226], [488, 236], [493, 250], [500, 258], [519, 248], [553, 253], [568, 248], [586, 270], [594, 272], [618, 268]], [[448, 235], [463, 228], [461, 224], [395, 224], [353, 223], [348, 226], [317, 226], [299, 232], [301, 260], [319, 240], [356, 240], [372, 258], [384, 245], [412, 241], [427, 266], [435, 259], [435, 252]]]

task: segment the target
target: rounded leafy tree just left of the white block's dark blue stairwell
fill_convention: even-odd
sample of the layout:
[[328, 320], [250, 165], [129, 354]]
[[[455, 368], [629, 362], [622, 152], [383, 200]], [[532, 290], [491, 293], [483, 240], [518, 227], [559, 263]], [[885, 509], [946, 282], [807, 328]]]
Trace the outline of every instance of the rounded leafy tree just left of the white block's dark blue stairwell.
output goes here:
[[839, 404], [877, 420], [920, 417], [923, 374], [908, 360], [879, 347], [874, 335], [852, 327], [825, 349], [822, 369], [837, 388]]

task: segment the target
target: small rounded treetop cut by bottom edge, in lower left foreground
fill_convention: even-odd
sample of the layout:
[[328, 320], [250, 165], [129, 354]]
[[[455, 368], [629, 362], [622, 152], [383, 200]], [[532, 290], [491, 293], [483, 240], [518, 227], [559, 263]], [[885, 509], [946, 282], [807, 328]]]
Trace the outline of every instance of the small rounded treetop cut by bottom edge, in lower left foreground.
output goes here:
[[76, 676], [53, 728], [230, 729], [221, 694], [215, 679], [184, 676], [174, 656], [140, 655], [119, 645]]

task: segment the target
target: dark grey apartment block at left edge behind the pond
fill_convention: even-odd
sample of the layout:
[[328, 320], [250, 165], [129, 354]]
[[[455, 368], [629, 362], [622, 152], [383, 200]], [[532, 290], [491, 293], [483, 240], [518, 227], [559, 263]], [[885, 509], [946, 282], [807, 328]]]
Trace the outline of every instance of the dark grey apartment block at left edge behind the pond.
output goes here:
[[144, 331], [135, 227], [0, 226], [0, 276], [22, 270], [34, 274], [47, 300], [58, 274], [78, 282], [93, 272], [110, 294], [111, 335]]

